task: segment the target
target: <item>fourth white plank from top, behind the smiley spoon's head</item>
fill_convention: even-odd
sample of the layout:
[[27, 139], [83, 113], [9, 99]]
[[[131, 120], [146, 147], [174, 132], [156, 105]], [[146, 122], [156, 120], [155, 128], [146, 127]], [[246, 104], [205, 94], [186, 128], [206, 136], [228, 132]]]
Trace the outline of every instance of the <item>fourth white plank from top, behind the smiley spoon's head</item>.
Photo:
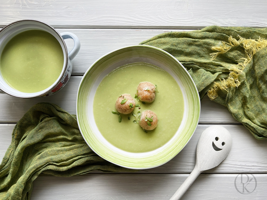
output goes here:
[[[0, 161], [11, 142], [15, 124], [0, 126]], [[201, 133], [211, 125], [198, 125], [195, 134], [185, 148], [168, 163], [140, 173], [190, 173], [195, 166], [196, 145]], [[267, 173], [267, 141], [256, 140], [243, 125], [222, 125], [232, 135], [233, 144], [229, 155], [207, 173]], [[210, 144], [212, 145], [212, 144]], [[98, 173], [98, 172], [96, 172]]]

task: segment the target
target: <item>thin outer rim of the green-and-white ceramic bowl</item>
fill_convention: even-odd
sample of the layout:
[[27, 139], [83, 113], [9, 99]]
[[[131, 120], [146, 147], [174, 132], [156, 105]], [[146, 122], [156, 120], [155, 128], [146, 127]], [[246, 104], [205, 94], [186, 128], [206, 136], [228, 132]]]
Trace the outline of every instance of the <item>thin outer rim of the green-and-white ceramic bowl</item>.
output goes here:
[[[82, 134], [82, 137], [83, 137], [83, 139], [85, 140], [85, 142], [86, 142], [86, 144], [90, 147], [90, 149], [91, 150], [93, 150], [93, 152], [95, 152], [97, 155], [98, 155], [98, 153], [89, 145], [89, 143], [88, 143], [88, 141], [85, 139], [85, 136], [83, 135], [83, 133], [82, 133], [82, 131], [81, 131], [81, 125], [80, 125], [80, 122], [79, 122], [79, 118], [78, 118], [78, 96], [79, 96], [79, 92], [80, 92], [80, 87], [81, 87], [81, 85], [82, 85], [82, 82], [83, 82], [83, 80], [85, 79], [85, 76], [86, 76], [86, 74], [92, 69], [92, 67], [95, 65], [95, 64], [97, 64], [102, 58], [104, 58], [104, 57], [106, 57], [107, 55], [109, 55], [109, 54], [111, 54], [111, 53], [114, 53], [114, 52], [116, 52], [116, 51], [119, 51], [119, 50], [123, 50], [123, 49], [126, 49], [126, 48], [132, 48], [132, 47], [146, 47], [146, 48], [152, 48], [152, 49], [155, 49], [155, 50], [159, 50], [159, 51], [161, 51], [162, 53], [164, 53], [164, 54], [166, 54], [166, 55], [168, 55], [168, 56], [170, 56], [171, 58], [173, 58], [183, 69], [184, 69], [184, 71], [187, 73], [187, 75], [188, 75], [188, 77], [190, 78], [190, 80], [192, 81], [192, 83], [193, 83], [193, 85], [194, 85], [194, 89], [196, 90], [196, 93], [197, 93], [197, 96], [198, 96], [198, 98], [197, 98], [197, 104], [198, 104], [198, 106], [199, 106], [199, 114], [198, 114], [198, 116], [197, 116], [197, 122], [196, 122], [196, 126], [195, 126], [195, 128], [194, 128], [194, 130], [193, 130], [193, 133], [192, 133], [192, 135], [190, 136], [190, 138], [187, 140], [187, 142], [185, 143], [185, 145], [181, 148], [181, 150], [178, 152], [178, 153], [180, 153], [181, 151], [182, 151], [182, 149], [187, 145], [187, 143], [190, 141], [190, 139], [192, 138], [192, 136], [194, 135], [194, 133], [195, 133], [195, 131], [196, 131], [196, 128], [197, 128], [197, 126], [198, 126], [198, 122], [199, 122], [199, 117], [200, 117], [200, 111], [201, 111], [201, 104], [200, 104], [200, 97], [199, 97], [199, 93], [198, 93], [198, 90], [197, 90], [197, 87], [196, 87], [196, 84], [195, 84], [195, 82], [193, 81], [193, 79], [192, 79], [192, 77], [190, 76], [190, 74], [188, 73], [188, 71], [185, 69], [185, 67], [173, 56], [173, 55], [171, 55], [170, 53], [168, 53], [168, 52], [166, 52], [166, 51], [164, 51], [164, 50], [162, 50], [162, 49], [160, 49], [160, 48], [157, 48], [157, 47], [153, 47], [153, 46], [149, 46], [149, 45], [129, 45], [129, 46], [126, 46], [126, 47], [121, 47], [121, 48], [118, 48], [118, 49], [115, 49], [115, 50], [112, 50], [112, 51], [110, 51], [109, 53], [106, 53], [106, 54], [104, 54], [103, 56], [101, 56], [100, 58], [98, 58], [87, 70], [86, 70], [86, 72], [84, 73], [84, 75], [82, 76], [82, 79], [81, 79], [81, 81], [80, 81], [80, 84], [79, 84], [79, 87], [78, 87], [78, 91], [77, 91], [77, 99], [76, 99], [76, 116], [77, 116], [77, 123], [78, 123], [78, 127], [79, 127], [79, 130], [80, 130], [80, 133]], [[177, 154], [178, 154], [177, 153]], [[175, 154], [172, 158], [174, 158], [177, 154]], [[101, 158], [103, 158], [101, 155], [98, 155], [98, 156], [100, 156]], [[163, 164], [166, 164], [167, 162], [169, 162], [172, 158], [170, 158], [169, 160], [167, 160], [167, 161], [165, 161], [165, 162], [163, 162], [163, 163], [160, 163], [159, 165], [156, 165], [156, 166], [152, 166], [152, 167], [129, 167], [129, 166], [124, 166], [124, 165], [121, 165], [121, 164], [117, 164], [117, 163], [115, 163], [115, 162], [113, 162], [113, 161], [110, 161], [110, 160], [107, 160], [106, 158], [103, 158], [103, 159], [105, 159], [105, 160], [107, 160], [107, 161], [109, 161], [109, 162], [111, 162], [111, 163], [113, 163], [113, 164], [115, 164], [115, 165], [118, 165], [118, 166], [121, 166], [121, 167], [124, 167], [124, 168], [128, 168], [128, 169], [139, 169], [139, 170], [142, 170], [142, 169], [152, 169], [152, 168], [155, 168], [155, 167], [159, 167], [159, 166], [161, 166], [161, 165], [163, 165]]]

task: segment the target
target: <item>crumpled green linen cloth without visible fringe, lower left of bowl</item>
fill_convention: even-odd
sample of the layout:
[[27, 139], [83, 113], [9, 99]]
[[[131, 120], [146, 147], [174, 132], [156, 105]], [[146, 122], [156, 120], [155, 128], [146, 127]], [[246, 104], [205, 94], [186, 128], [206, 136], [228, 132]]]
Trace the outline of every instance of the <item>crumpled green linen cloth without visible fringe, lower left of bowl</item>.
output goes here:
[[0, 165], [0, 199], [30, 199], [40, 173], [70, 177], [92, 170], [130, 172], [94, 153], [76, 120], [55, 104], [39, 103], [16, 124]]

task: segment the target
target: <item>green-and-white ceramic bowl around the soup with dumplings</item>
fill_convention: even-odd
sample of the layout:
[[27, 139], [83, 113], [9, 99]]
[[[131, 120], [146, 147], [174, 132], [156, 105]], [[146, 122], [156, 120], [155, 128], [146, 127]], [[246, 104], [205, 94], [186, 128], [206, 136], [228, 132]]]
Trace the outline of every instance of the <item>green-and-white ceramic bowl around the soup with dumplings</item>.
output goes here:
[[[171, 74], [184, 98], [184, 116], [176, 134], [162, 147], [145, 153], [131, 153], [110, 144], [99, 132], [93, 116], [93, 99], [101, 80], [113, 69], [134, 62], [156, 65]], [[134, 45], [114, 50], [90, 66], [85, 72], [77, 94], [77, 120], [89, 147], [109, 162], [130, 169], [160, 166], [179, 153], [192, 137], [200, 115], [200, 99], [192, 78], [171, 54], [156, 47]]]

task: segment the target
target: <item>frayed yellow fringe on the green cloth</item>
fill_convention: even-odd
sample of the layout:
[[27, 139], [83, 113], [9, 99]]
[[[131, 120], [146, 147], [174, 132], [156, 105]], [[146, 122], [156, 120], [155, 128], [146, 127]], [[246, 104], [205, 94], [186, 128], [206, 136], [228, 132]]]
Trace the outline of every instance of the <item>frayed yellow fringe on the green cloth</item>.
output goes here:
[[208, 91], [208, 96], [211, 100], [217, 98], [219, 90], [226, 90], [227, 88], [234, 86], [238, 87], [240, 82], [238, 80], [239, 74], [241, 74], [247, 64], [252, 60], [252, 56], [267, 46], [267, 40], [259, 39], [245, 39], [239, 36], [239, 40], [234, 39], [232, 36], [228, 38], [228, 42], [222, 42], [219, 46], [212, 47], [212, 50], [217, 51], [215, 53], [210, 53], [212, 60], [214, 60], [219, 54], [226, 53], [231, 47], [240, 45], [244, 47], [245, 54], [247, 58], [241, 58], [236, 66], [230, 68], [230, 73], [228, 78], [220, 80], [221, 82], [214, 82], [213, 87]]

